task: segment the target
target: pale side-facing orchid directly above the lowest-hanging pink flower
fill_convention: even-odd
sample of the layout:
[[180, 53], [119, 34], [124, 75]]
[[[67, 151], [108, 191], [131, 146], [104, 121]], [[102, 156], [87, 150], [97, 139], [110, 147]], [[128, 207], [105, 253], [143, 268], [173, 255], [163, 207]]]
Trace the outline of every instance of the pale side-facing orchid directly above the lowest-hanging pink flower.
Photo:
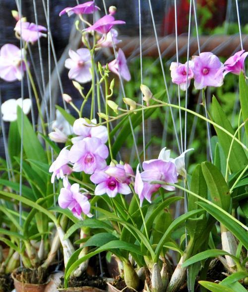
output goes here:
[[54, 183], [55, 177], [57, 179], [63, 178], [65, 174], [71, 174], [72, 169], [67, 165], [69, 163], [69, 158], [68, 158], [69, 150], [63, 148], [60, 151], [59, 156], [57, 159], [53, 162], [53, 164], [49, 168], [49, 172], [53, 172], [51, 182]]

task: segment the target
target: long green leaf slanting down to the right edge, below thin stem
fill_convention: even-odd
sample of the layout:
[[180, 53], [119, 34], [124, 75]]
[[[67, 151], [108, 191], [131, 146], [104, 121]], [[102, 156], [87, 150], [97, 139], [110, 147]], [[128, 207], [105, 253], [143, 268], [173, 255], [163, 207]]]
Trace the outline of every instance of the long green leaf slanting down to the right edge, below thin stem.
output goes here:
[[210, 215], [212, 215], [216, 220], [222, 223], [226, 228], [231, 231], [248, 249], [248, 232], [244, 230], [235, 220], [231, 219], [225, 213], [221, 213], [217, 208], [213, 205], [208, 205], [203, 202], [197, 203], [203, 209], [205, 209]]

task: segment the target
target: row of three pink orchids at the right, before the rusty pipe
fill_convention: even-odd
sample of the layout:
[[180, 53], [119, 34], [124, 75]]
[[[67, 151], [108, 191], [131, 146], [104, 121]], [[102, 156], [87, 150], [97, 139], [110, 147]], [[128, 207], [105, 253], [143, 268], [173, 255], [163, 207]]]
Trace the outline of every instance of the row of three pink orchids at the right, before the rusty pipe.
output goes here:
[[203, 89], [206, 86], [219, 87], [223, 84], [224, 76], [227, 73], [238, 75], [244, 72], [247, 55], [248, 52], [245, 50], [237, 52], [224, 65], [211, 52], [193, 56], [192, 61], [188, 61], [186, 64], [173, 62], [170, 67], [172, 82], [178, 84], [182, 90], [187, 89], [192, 78], [194, 78], [196, 89]]

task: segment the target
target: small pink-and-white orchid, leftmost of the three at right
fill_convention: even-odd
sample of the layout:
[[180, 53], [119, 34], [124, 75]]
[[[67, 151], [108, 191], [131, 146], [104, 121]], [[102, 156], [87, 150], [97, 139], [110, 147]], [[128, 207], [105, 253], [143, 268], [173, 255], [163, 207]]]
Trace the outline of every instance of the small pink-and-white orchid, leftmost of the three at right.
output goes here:
[[[172, 62], [170, 70], [172, 82], [180, 86], [182, 90], [186, 90], [190, 85], [190, 80], [194, 77], [193, 73], [194, 63], [188, 61], [188, 76], [187, 76], [187, 63], [181, 64], [177, 62]], [[187, 78], [188, 77], [188, 78]], [[187, 82], [188, 79], [188, 82]], [[187, 85], [187, 88], [186, 88]]]

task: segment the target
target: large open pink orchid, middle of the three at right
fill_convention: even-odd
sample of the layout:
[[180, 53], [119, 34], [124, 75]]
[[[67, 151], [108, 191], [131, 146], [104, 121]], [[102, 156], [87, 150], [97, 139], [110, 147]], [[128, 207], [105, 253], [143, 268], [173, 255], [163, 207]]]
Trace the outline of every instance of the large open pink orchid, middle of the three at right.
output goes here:
[[219, 87], [223, 84], [223, 64], [213, 53], [204, 52], [193, 56], [194, 87], [202, 89], [206, 86]]

